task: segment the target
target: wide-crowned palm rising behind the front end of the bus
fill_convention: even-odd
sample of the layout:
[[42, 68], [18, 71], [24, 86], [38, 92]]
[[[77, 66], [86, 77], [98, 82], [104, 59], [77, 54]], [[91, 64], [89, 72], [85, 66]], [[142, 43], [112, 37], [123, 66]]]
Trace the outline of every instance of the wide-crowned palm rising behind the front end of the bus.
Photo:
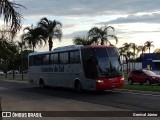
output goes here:
[[[114, 32], [114, 27], [112, 26], [104, 26], [101, 28], [93, 27], [88, 32], [88, 37], [91, 39], [94, 39], [96, 43], [98, 43], [100, 40], [100, 44], [104, 45], [105, 43], [109, 43], [111, 45], [111, 42], [109, 41], [110, 38], [114, 38], [116, 40], [116, 43], [118, 42], [118, 39], [115, 35], [109, 34], [109, 29], [111, 29]], [[95, 39], [96, 38], [96, 39]]]

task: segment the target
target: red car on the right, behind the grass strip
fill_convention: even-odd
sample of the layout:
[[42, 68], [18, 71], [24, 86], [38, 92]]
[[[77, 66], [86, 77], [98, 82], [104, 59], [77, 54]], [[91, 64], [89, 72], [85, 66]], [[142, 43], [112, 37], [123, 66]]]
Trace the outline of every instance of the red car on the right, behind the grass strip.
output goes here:
[[145, 83], [146, 85], [158, 84], [160, 85], [160, 75], [150, 70], [133, 70], [128, 75], [128, 83]]

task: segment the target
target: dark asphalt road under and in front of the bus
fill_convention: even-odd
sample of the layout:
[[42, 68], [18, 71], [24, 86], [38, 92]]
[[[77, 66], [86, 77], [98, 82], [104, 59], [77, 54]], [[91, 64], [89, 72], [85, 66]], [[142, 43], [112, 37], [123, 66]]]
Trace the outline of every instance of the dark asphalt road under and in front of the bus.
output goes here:
[[8, 81], [0, 81], [0, 98], [3, 111], [160, 111], [160, 94], [117, 90], [76, 93]]

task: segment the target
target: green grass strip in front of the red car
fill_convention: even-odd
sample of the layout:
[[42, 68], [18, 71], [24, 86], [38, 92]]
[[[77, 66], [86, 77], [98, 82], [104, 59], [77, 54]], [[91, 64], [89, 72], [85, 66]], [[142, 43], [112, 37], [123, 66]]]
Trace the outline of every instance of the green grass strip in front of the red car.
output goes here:
[[128, 90], [139, 90], [139, 91], [152, 91], [152, 92], [160, 92], [160, 86], [158, 85], [125, 85], [123, 89]]

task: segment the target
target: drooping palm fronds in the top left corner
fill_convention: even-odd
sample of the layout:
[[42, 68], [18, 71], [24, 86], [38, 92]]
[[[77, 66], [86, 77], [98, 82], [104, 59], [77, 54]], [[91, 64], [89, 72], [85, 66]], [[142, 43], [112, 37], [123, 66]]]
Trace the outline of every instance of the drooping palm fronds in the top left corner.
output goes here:
[[15, 10], [20, 7], [23, 6], [9, 0], [0, 0], [0, 15], [3, 15], [5, 23], [11, 22], [12, 36], [15, 36], [16, 32], [21, 28], [22, 15]]

